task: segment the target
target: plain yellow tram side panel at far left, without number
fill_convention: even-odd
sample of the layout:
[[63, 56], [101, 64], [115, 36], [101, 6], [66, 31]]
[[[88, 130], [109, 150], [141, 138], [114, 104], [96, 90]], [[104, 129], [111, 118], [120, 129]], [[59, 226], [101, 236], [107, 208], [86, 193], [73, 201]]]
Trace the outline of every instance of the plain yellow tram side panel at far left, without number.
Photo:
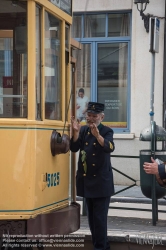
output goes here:
[[3, 142], [0, 146], [0, 190], [3, 190], [0, 218], [20, 218], [33, 204], [33, 133], [28, 129], [6, 127], [1, 128], [0, 138]]

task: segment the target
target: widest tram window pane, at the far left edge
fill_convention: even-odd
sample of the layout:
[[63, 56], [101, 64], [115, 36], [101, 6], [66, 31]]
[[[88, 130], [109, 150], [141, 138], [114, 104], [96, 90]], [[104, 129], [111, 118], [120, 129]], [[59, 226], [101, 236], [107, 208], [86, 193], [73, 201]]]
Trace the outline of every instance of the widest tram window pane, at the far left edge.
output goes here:
[[1, 0], [0, 117], [27, 117], [27, 6]]

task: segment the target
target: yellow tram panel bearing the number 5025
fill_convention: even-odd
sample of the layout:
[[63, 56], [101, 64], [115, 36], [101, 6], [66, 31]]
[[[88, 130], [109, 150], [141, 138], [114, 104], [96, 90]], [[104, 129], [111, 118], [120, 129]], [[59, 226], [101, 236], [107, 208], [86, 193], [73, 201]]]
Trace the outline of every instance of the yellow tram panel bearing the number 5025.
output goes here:
[[69, 153], [52, 156], [51, 133], [37, 131], [34, 206], [45, 206], [43, 211], [67, 206], [69, 197]]

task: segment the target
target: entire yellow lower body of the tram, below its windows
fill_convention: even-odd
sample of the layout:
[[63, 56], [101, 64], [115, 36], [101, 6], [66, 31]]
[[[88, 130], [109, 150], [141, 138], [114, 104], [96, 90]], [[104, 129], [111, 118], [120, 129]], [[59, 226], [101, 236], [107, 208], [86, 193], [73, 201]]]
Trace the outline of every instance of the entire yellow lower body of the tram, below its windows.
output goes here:
[[[0, 127], [0, 219], [31, 218], [68, 205], [69, 153], [51, 155], [51, 133], [46, 126]], [[46, 174], [57, 173], [59, 185], [54, 178], [48, 187]]]

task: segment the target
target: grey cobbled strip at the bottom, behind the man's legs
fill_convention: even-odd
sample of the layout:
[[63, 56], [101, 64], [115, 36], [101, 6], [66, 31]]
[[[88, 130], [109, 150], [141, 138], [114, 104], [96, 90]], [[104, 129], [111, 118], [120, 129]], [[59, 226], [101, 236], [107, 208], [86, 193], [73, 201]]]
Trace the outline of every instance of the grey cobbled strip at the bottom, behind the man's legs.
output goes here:
[[[81, 227], [75, 234], [83, 234], [91, 240], [87, 216], [81, 216]], [[159, 220], [153, 226], [151, 219], [108, 216], [108, 237], [113, 242], [143, 244], [148, 241], [166, 246], [166, 221]]]

